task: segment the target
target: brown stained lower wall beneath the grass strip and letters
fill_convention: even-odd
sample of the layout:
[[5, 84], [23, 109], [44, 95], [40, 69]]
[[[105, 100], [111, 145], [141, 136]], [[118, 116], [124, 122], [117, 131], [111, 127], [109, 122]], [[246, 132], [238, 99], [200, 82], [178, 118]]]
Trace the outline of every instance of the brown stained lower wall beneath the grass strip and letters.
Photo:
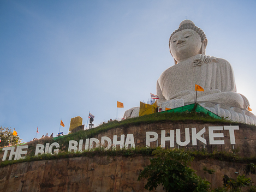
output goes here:
[[[0, 191], [147, 191], [146, 179], [137, 181], [139, 173], [149, 163], [149, 157], [78, 157], [34, 161], [0, 168]], [[216, 170], [205, 174], [203, 167]], [[245, 164], [217, 160], [193, 161], [197, 174], [211, 182], [211, 187], [222, 186], [222, 176], [236, 178]], [[256, 182], [256, 177], [250, 176]], [[163, 191], [162, 187], [155, 191]]]

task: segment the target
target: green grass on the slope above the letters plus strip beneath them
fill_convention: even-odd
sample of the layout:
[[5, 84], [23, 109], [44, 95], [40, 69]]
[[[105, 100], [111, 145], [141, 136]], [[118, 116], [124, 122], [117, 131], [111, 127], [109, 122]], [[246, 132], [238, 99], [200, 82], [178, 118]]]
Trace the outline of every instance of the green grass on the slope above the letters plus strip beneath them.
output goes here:
[[[255, 125], [248, 125], [248, 124], [243, 124], [243, 123], [238, 123], [238, 122], [231, 122], [228, 121], [225, 118], [222, 119], [216, 119], [213, 118], [205, 113], [197, 113], [197, 112], [183, 112], [183, 113], [153, 113], [151, 115], [146, 115], [146, 116], [141, 116], [141, 117], [136, 117], [136, 118], [130, 118], [126, 119], [124, 121], [112, 121], [109, 123], [102, 123], [98, 127], [90, 129], [90, 130], [82, 130], [77, 133], [69, 134], [69, 135], [64, 135], [60, 137], [47, 137], [35, 141], [30, 141], [26, 143], [28, 145], [28, 153], [27, 153], [27, 158], [25, 159], [20, 159], [20, 160], [12, 160], [12, 161], [2, 161], [0, 166], [5, 166], [5, 165], [10, 165], [13, 163], [21, 163], [23, 161], [37, 161], [37, 160], [50, 160], [50, 159], [58, 159], [58, 158], [70, 158], [70, 157], [80, 157], [80, 156], [91, 156], [91, 155], [124, 155], [124, 156], [129, 156], [129, 155], [136, 155], [136, 154], [142, 154], [142, 155], [152, 155], [152, 151], [154, 149], [152, 148], [135, 148], [135, 149], [121, 149], [121, 150], [109, 150], [109, 151], [104, 151], [103, 149], [96, 148], [91, 151], [83, 151], [83, 152], [68, 152], [68, 144], [70, 140], [75, 140], [79, 141], [80, 139], [87, 139], [94, 137], [97, 134], [104, 133], [105, 131], [108, 131], [110, 129], [115, 129], [115, 128], [126, 128], [131, 125], [142, 125], [142, 124], [151, 124], [151, 123], [163, 123], [163, 122], [170, 122], [170, 123], [215, 123], [215, 124], [221, 124], [221, 125], [230, 125], [231, 123], [233, 125], [243, 125], [243, 127], [249, 127], [252, 129], [255, 129]], [[57, 142], [59, 143], [60, 150], [61, 152], [58, 154], [43, 154], [39, 156], [34, 156], [35, 152], [35, 146], [37, 144], [43, 144], [45, 145], [46, 143], [53, 143]], [[210, 154], [205, 151], [201, 152], [192, 152], [195, 156], [198, 156], [200, 158], [204, 157], [215, 157], [217, 158], [222, 158], [226, 160], [246, 160], [245, 158], [239, 158], [236, 155], [233, 154], [224, 154], [224, 152], [216, 152], [215, 154]], [[221, 154], [222, 155], [218, 155]], [[203, 155], [203, 156], [202, 156]], [[224, 156], [223, 156], [224, 155]], [[230, 156], [231, 155], [231, 156]], [[227, 157], [226, 157], [227, 156]], [[0, 149], [0, 158], [2, 159], [3, 157], [3, 151]], [[216, 158], [215, 157], [215, 158]], [[251, 158], [250, 158], [251, 159]], [[250, 161], [254, 161], [253, 158]]]

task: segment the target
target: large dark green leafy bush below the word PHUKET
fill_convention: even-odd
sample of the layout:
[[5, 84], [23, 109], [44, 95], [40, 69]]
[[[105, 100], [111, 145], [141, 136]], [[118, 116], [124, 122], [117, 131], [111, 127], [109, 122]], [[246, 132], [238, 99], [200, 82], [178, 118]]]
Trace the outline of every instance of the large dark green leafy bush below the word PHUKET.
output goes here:
[[145, 189], [150, 191], [163, 185], [165, 191], [207, 191], [210, 183], [201, 179], [188, 167], [194, 158], [180, 149], [157, 148], [151, 164], [140, 172], [138, 181], [147, 178]]

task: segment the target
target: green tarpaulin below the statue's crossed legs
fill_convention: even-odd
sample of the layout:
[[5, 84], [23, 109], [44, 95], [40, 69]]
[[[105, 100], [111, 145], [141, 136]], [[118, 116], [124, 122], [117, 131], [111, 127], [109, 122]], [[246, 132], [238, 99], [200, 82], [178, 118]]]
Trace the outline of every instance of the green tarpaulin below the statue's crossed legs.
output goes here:
[[[182, 107], [177, 107], [175, 109], [170, 109], [170, 110], [167, 110], [167, 111], [162, 111], [161, 113], [170, 113], [170, 112], [191, 112], [193, 109], [194, 109], [194, 106], [195, 104], [190, 104], [190, 105], [185, 105], [185, 106], [182, 106]], [[211, 117], [213, 118], [216, 118], [216, 119], [221, 119], [221, 117], [219, 117], [218, 115], [216, 115], [215, 113], [205, 109], [204, 107], [200, 106], [199, 104], [197, 104], [197, 108], [195, 108], [195, 111], [196, 112], [203, 112], [203, 113], [206, 113], [208, 115], [210, 115]]]

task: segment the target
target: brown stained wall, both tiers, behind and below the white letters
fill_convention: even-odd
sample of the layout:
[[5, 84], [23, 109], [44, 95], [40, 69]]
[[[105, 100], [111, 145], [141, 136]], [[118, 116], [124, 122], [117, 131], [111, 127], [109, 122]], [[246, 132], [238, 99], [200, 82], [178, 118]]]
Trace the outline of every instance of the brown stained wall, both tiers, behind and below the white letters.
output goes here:
[[[181, 129], [181, 141], [184, 141], [185, 128], [197, 128], [197, 131], [206, 127], [205, 139], [207, 145], [198, 141], [198, 146], [192, 146], [191, 138], [188, 146], [182, 148], [200, 149], [205, 147], [208, 151], [230, 151], [229, 131], [222, 138], [225, 145], [210, 146], [208, 135], [209, 126], [223, 126], [225, 124], [202, 124], [202, 123], [152, 123], [138, 126], [115, 128], [105, 133], [96, 135], [100, 140], [102, 136], [113, 139], [113, 135], [120, 137], [121, 134], [134, 134], [136, 146], [145, 145], [146, 131], [156, 131], [159, 134], [157, 142], [151, 143], [151, 147], [160, 145], [161, 130], [168, 133], [171, 129]], [[227, 124], [226, 124], [227, 125]], [[236, 145], [239, 154], [243, 157], [255, 155], [256, 136], [254, 127], [239, 126], [235, 130]], [[190, 131], [191, 134], [191, 131]], [[168, 135], [166, 135], [168, 136]], [[166, 142], [166, 146], [169, 145]], [[175, 147], [177, 144], [175, 143]], [[181, 147], [180, 147], [181, 148]], [[138, 155], [136, 157], [78, 157], [69, 159], [42, 160], [0, 167], [0, 191], [147, 191], [144, 189], [146, 179], [137, 181], [139, 173], [150, 163], [150, 157]], [[214, 175], [206, 175], [203, 167], [216, 170]], [[197, 170], [202, 178], [211, 182], [211, 187], [222, 186], [222, 176], [236, 178], [238, 172], [243, 173], [242, 163], [219, 161], [212, 159], [193, 161], [191, 167]], [[250, 176], [256, 182], [255, 176]], [[156, 191], [163, 191], [162, 187]]]

